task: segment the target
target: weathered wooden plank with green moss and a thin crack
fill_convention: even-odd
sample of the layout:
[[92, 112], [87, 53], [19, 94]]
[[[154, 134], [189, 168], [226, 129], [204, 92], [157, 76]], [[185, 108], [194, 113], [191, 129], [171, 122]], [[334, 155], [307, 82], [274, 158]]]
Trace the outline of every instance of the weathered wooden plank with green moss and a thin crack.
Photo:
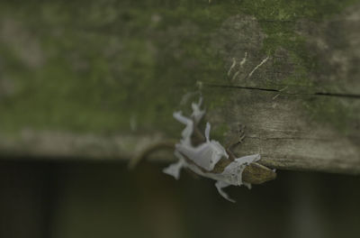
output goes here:
[[246, 125], [238, 155], [360, 172], [359, 1], [4, 1], [0, 14], [8, 159], [129, 160], [178, 138], [172, 112], [201, 93], [214, 138]]

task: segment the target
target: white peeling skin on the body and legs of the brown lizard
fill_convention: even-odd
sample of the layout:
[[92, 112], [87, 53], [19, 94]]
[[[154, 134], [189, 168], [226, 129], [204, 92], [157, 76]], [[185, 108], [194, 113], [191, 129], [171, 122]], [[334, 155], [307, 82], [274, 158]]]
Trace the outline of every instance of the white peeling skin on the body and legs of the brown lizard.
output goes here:
[[230, 202], [235, 202], [235, 200], [231, 199], [222, 188], [226, 188], [230, 185], [241, 186], [243, 184], [250, 188], [250, 184], [242, 181], [242, 172], [248, 164], [260, 160], [260, 155], [253, 154], [237, 158], [229, 162], [229, 165], [225, 167], [222, 172], [211, 172], [221, 158], [229, 160], [229, 154], [220, 142], [210, 139], [210, 123], [206, 124], [204, 133], [206, 141], [197, 146], [193, 146], [191, 136], [194, 131], [194, 124], [198, 124], [202, 119], [203, 114], [205, 114], [205, 111], [201, 110], [201, 105], [202, 98], [200, 98], [198, 104], [192, 104], [193, 114], [191, 115], [191, 118], [184, 116], [182, 112], [174, 113], [175, 119], [185, 125], [182, 132], [182, 139], [175, 144], [175, 156], [179, 160], [163, 171], [178, 179], [180, 177], [180, 170], [182, 168], [187, 168], [203, 177], [217, 180], [215, 187], [218, 189], [220, 195]]

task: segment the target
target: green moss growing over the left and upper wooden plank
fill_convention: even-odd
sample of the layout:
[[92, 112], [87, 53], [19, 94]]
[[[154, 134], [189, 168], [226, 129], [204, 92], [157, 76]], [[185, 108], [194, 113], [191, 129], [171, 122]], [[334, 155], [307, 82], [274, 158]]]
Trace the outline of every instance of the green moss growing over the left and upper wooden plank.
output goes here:
[[[177, 134], [172, 113], [189, 106], [180, 105], [183, 96], [196, 92], [197, 82], [226, 79], [211, 34], [237, 14], [257, 18], [264, 53], [290, 52], [296, 69], [281, 83], [312, 86], [316, 59], [295, 22], [321, 21], [353, 2], [2, 1], [0, 81], [12, 87], [0, 96], [0, 130]], [[209, 109], [229, 97], [203, 94]]]

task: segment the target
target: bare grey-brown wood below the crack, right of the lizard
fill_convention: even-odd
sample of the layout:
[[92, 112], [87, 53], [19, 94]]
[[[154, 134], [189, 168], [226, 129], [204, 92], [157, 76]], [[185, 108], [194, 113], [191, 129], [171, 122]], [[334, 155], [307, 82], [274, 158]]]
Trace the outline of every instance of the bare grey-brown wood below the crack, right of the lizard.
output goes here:
[[[303, 110], [302, 104], [309, 101], [346, 101], [353, 103], [352, 109], [359, 114], [360, 100], [302, 95], [273, 99], [275, 92], [238, 88], [223, 90], [227, 93], [232, 91], [236, 96], [229, 106], [212, 113], [211, 118], [233, 125], [236, 122], [247, 125], [247, 139], [238, 147], [238, 154], [259, 151], [264, 164], [278, 169], [359, 172], [359, 129], [354, 126], [353, 131], [344, 132], [334, 129], [327, 122], [317, 122]], [[236, 133], [228, 133], [227, 136], [231, 138]]]

